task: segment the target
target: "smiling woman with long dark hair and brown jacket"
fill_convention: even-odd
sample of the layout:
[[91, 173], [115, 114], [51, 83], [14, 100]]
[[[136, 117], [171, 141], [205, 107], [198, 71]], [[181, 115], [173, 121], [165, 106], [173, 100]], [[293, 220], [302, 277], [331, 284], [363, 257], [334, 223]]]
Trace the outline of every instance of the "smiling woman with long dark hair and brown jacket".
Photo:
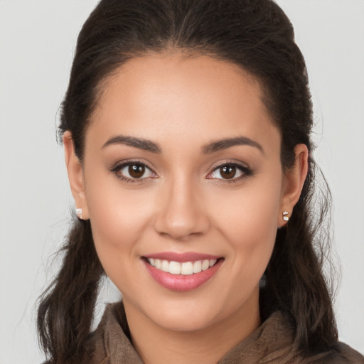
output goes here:
[[[63, 102], [78, 218], [38, 311], [50, 363], [364, 363], [316, 255], [311, 127], [273, 1], [102, 0]], [[90, 334], [104, 274], [122, 302]]]

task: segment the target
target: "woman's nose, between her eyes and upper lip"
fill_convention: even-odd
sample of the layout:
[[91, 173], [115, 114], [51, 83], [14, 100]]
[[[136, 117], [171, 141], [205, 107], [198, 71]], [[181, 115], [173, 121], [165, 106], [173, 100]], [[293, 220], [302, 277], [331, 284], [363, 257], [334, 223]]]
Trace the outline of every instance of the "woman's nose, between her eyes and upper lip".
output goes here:
[[188, 240], [203, 235], [210, 228], [198, 188], [186, 178], [166, 183], [159, 194], [156, 232], [173, 240]]

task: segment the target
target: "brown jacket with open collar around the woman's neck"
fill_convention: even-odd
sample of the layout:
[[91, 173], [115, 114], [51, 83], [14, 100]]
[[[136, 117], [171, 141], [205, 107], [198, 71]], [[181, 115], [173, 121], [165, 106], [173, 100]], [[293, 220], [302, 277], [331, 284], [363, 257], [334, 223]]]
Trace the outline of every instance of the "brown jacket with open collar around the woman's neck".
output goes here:
[[[122, 303], [109, 304], [102, 321], [92, 334], [87, 364], [143, 364], [129, 341], [129, 328]], [[217, 364], [364, 364], [364, 357], [343, 343], [338, 350], [302, 358], [293, 345], [287, 319], [275, 312], [251, 336], [232, 348]]]

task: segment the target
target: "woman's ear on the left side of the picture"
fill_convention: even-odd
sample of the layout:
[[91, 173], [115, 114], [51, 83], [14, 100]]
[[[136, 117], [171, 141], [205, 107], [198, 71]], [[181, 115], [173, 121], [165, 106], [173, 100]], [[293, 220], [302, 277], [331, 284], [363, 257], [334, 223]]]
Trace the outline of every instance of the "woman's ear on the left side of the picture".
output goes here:
[[89, 217], [86, 196], [85, 183], [83, 176], [83, 168], [80, 159], [75, 154], [75, 145], [71, 132], [66, 131], [63, 134], [63, 146], [65, 149], [65, 165], [68, 173], [68, 181], [73, 198], [75, 199], [76, 208], [82, 208], [82, 220], [87, 220]]

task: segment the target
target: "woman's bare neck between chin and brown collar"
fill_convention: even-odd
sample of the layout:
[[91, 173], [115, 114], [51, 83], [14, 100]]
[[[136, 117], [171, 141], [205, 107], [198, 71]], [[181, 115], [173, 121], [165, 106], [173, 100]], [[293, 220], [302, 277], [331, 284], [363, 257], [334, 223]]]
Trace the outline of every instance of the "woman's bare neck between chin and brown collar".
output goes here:
[[145, 364], [217, 363], [260, 325], [259, 306], [196, 331], [163, 328], [125, 302], [124, 306], [133, 345]]

